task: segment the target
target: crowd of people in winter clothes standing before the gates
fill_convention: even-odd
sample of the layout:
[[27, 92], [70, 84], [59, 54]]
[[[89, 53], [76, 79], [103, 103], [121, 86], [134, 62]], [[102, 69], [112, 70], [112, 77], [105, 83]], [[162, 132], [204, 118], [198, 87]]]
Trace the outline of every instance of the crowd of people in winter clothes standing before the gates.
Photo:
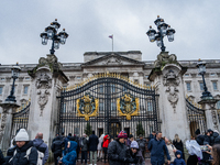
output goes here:
[[[109, 134], [98, 138], [95, 131], [81, 138], [69, 133], [56, 134], [51, 151], [55, 165], [96, 165], [102, 161], [110, 165], [144, 165], [146, 151], [151, 155], [152, 165], [220, 165], [220, 135], [217, 130], [208, 130], [205, 134], [196, 130], [196, 136], [186, 141], [189, 156], [185, 162], [184, 143], [178, 134], [168, 140], [162, 132], [153, 131], [144, 139], [135, 140], [125, 131], [119, 132], [113, 139]], [[33, 141], [24, 129], [20, 129], [4, 157], [0, 150], [0, 165], [44, 165], [48, 160], [48, 146], [43, 141], [43, 133], [37, 133]], [[80, 160], [79, 160], [80, 153]]]

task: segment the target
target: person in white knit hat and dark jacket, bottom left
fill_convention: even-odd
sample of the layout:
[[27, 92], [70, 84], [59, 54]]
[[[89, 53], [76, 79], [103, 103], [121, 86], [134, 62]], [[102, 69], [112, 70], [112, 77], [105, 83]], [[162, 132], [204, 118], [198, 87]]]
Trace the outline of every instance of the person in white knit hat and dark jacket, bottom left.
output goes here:
[[[9, 160], [10, 165], [36, 165], [38, 154], [33, 142], [29, 140], [25, 129], [21, 129], [15, 136], [16, 145], [11, 151], [13, 154]], [[26, 153], [30, 151], [30, 154]]]

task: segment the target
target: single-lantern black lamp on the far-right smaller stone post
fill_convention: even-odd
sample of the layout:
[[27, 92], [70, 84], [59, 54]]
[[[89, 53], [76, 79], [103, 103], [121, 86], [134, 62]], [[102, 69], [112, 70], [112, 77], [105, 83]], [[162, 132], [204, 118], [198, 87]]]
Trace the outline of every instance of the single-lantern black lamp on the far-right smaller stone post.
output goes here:
[[205, 81], [205, 74], [206, 74], [206, 62], [202, 62], [201, 59], [199, 59], [199, 62], [197, 63], [197, 68], [199, 72], [199, 75], [201, 75], [202, 77], [202, 81], [204, 81], [204, 92], [201, 96], [201, 99], [213, 99], [212, 95], [208, 91], [207, 86], [206, 86], [206, 81]]

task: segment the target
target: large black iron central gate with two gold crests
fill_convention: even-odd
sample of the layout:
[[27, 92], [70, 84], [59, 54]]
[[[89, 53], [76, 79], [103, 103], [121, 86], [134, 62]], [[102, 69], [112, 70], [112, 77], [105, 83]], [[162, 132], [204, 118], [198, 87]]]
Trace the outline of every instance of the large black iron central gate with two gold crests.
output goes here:
[[98, 74], [85, 82], [65, 89], [58, 97], [58, 132], [82, 135], [88, 123], [96, 131], [114, 136], [127, 130], [135, 136], [147, 136], [161, 130], [158, 96], [118, 74]]

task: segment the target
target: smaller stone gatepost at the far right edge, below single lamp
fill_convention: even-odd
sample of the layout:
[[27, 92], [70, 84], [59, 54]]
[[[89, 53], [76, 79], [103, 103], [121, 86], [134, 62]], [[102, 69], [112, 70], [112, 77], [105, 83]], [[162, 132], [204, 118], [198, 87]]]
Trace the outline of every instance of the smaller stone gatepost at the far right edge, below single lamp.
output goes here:
[[198, 103], [201, 105], [201, 108], [205, 110], [207, 129], [220, 131], [219, 118], [216, 109], [217, 101], [218, 100], [211, 97], [210, 99], [201, 99]]

